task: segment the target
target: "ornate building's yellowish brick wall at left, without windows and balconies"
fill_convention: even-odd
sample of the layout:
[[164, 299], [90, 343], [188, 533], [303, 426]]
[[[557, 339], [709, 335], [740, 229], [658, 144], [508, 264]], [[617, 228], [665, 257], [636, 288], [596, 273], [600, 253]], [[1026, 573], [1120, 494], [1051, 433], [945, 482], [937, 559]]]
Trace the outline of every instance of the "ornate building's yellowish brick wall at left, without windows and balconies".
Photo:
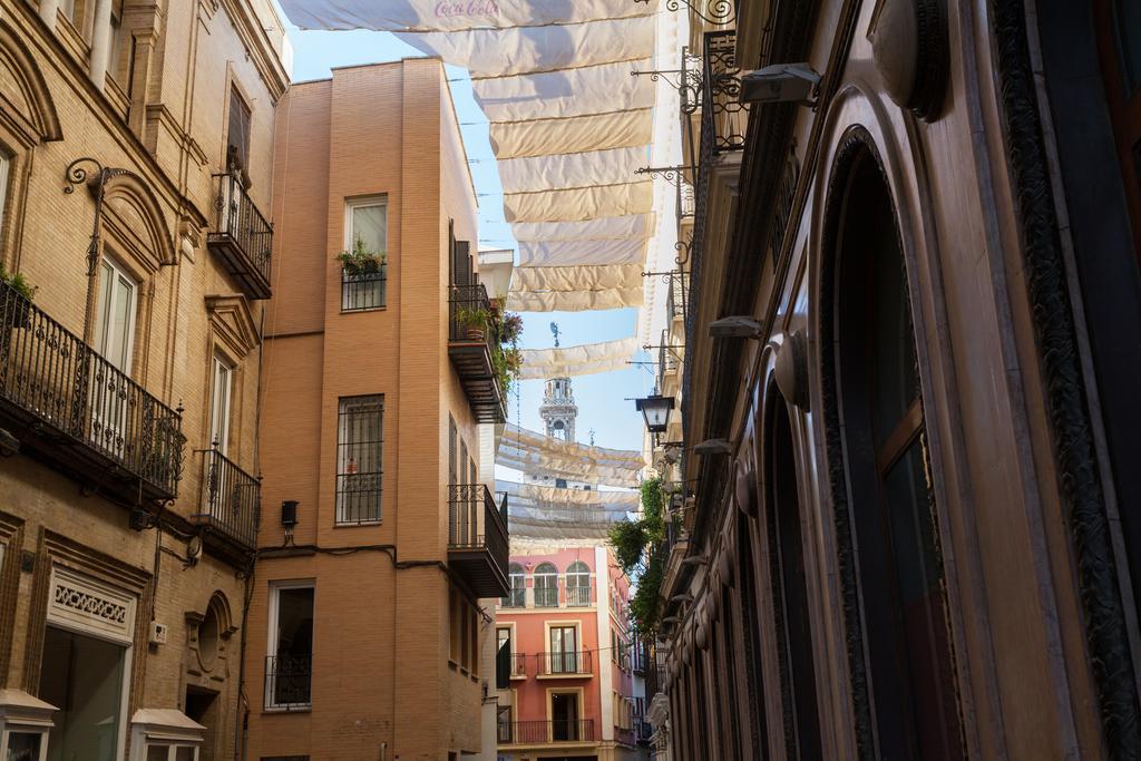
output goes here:
[[[187, 436], [178, 499], [165, 505], [161, 532], [132, 531], [128, 509], [89, 496], [90, 484], [26, 454], [0, 463], [0, 523], [23, 525], [5, 548], [0, 589], [15, 599], [0, 601], [3, 609], [14, 610], [10, 618], [0, 620], [0, 664], [7, 664], [0, 669], [0, 683], [33, 694], [39, 688], [44, 621], [42, 602], [33, 599], [33, 591], [44, 584], [50, 570], [41, 539], [48, 533], [59, 535], [78, 557], [124, 577], [148, 580], [131, 647], [127, 718], [143, 707], [184, 709], [191, 685], [217, 691], [202, 758], [221, 759], [233, 754], [237, 720], [238, 651], [244, 634], [242, 564], [224, 560], [212, 550], [195, 565], [186, 566], [180, 559], [186, 557], [193, 529], [189, 518], [200, 511], [201, 460], [193, 451], [208, 445], [210, 357], [216, 341], [205, 299], [236, 294], [236, 302], [244, 300], [205, 245], [215, 224], [211, 175], [222, 170], [225, 110], [233, 82], [252, 106], [251, 195], [262, 211], [269, 211], [274, 108], [285, 76], [273, 60], [276, 54], [248, 0], [224, 0], [217, 9], [209, 2], [164, 5], [159, 17], [153, 9], [135, 8], [124, 22], [137, 40], [153, 39], [153, 46], [137, 42], [133, 80], [123, 76], [126, 59], [114, 68], [121, 81], [131, 82], [130, 88], [122, 88], [130, 102], [123, 108], [118, 95], [108, 97], [91, 84], [86, 62], [65, 44], [68, 35], [75, 37], [65, 19], [60, 17], [52, 31], [38, 17], [34, 2], [0, 0], [0, 92], [5, 95], [0, 149], [13, 156], [16, 169], [0, 222], [0, 261], [38, 288], [37, 307], [82, 335], [89, 288], [87, 252], [96, 205], [82, 187], [63, 193], [65, 168], [90, 156], [104, 167], [128, 170], [128, 179], [137, 178], [130, 184], [139, 188], [136, 197], [144, 202], [126, 195], [116, 199], [119, 191], [112, 193], [108, 184], [106, 211], [118, 214], [123, 228], [116, 233], [110, 222], [105, 226], [100, 253], [116, 251], [140, 280], [130, 375], [167, 406], [183, 406]], [[153, 25], [149, 35], [144, 23]], [[27, 124], [32, 132], [42, 129], [44, 122], [38, 114], [43, 113], [57, 116], [58, 135], [30, 139], [21, 132]], [[160, 266], [162, 251], [172, 256]], [[260, 323], [258, 302], [242, 308], [250, 310], [254, 325]], [[260, 351], [254, 346], [246, 356], [234, 358], [241, 363], [229, 453], [256, 475]], [[0, 356], [0, 363], [5, 362]], [[32, 553], [31, 570], [21, 568], [22, 552]], [[205, 614], [216, 596], [226, 600], [228, 624], [234, 629], [220, 640], [217, 658], [203, 665], [196, 651], [195, 615]], [[165, 645], [147, 645], [152, 617], [168, 626]]]

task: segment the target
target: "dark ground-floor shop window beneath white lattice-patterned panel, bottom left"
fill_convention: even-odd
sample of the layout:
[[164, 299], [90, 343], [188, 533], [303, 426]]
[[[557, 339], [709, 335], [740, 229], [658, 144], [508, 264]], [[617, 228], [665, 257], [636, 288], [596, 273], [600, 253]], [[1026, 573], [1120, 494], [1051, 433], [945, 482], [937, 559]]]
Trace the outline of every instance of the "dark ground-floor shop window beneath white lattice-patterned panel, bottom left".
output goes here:
[[126, 672], [126, 647], [47, 628], [40, 698], [59, 709], [51, 717], [55, 727], [48, 738], [49, 758], [90, 761], [120, 758]]

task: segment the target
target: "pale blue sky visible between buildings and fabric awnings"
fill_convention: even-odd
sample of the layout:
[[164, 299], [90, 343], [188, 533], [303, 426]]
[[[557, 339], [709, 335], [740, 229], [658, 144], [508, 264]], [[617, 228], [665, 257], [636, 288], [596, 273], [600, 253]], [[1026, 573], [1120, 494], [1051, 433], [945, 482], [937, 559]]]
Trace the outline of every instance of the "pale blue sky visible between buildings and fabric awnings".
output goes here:
[[[283, 15], [284, 17], [284, 15]], [[397, 60], [421, 55], [385, 32], [313, 32], [289, 25], [293, 43], [293, 79], [304, 81], [324, 79], [337, 66]], [[452, 95], [461, 122], [463, 141], [471, 162], [471, 173], [479, 194], [479, 237], [484, 249], [513, 249], [511, 229], [503, 220], [500, 201], [502, 188], [495, 169], [495, 156], [487, 139], [487, 121], [471, 95], [471, 84], [463, 68], [448, 66]], [[523, 348], [552, 346], [550, 323], [557, 322], [561, 332], [560, 343], [590, 343], [626, 338], [636, 330], [637, 310], [612, 309], [584, 313], [527, 313], [524, 314]], [[641, 356], [645, 361], [648, 357]], [[640, 450], [642, 443], [641, 415], [634, 410], [631, 397], [645, 396], [653, 390], [654, 380], [648, 366], [631, 365], [628, 370], [584, 375], [574, 379], [578, 402], [577, 437], [589, 443], [594, 431], [594, 443], [620, 450]], [[520, 394], [512, 394], [508, 419], [524, 428], [542, 430], [539, 405], [542, 403], [542, 381], [524, 381]]]

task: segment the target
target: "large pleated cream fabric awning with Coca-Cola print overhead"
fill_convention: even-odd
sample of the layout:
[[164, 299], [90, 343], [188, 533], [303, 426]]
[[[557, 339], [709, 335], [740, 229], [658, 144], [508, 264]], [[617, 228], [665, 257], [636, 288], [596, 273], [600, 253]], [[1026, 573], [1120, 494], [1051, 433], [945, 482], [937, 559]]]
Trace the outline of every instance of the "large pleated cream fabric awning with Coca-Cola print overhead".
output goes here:
[[394, 32], [468, 68], [500, 160], [504, 217], [520, 242], [511, 308], [642, 303], [656, 180], [634, 171], [650, 163], [658, 83], [630, 74], [654, 68], [655, 0], [282, 0], [282, 7], [302, 29]]

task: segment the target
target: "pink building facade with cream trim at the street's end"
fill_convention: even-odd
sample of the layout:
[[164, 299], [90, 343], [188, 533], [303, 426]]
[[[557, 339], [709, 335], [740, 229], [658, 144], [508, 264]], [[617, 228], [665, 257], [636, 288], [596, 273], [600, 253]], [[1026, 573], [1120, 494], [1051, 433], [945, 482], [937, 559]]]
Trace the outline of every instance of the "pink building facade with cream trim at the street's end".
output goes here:
[[634, 737], [629, 581], [606, 547], [512, 548], [499, 602], [499, 758], [626, 760]]

